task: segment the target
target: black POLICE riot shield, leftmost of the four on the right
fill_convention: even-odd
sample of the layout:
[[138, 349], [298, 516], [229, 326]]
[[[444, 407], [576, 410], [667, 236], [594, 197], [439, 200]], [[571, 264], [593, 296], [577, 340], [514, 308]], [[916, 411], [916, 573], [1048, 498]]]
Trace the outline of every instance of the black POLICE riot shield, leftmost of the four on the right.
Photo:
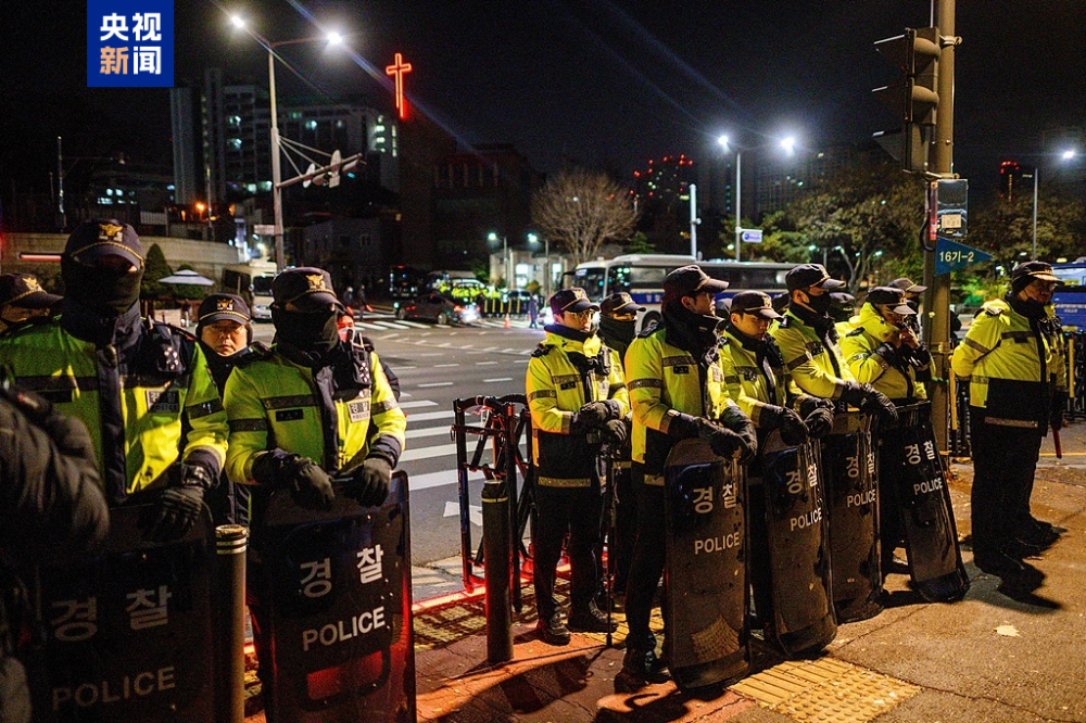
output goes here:
[[705, 440], [684, 440], [668, 456], [667, 646], [683, 690], [727, 684], [750, 667], [744, 478]]

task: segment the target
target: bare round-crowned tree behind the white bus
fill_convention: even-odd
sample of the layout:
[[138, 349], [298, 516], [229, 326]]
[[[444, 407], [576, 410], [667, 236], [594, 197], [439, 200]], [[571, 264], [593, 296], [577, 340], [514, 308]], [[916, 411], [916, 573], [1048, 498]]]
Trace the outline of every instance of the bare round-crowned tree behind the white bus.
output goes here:
[[532, 219], [580, 264], [596, 255], [606, 241], [626, 241], [637, 213], [629, 193], [604, 174], [564, 172], [536, 191]]

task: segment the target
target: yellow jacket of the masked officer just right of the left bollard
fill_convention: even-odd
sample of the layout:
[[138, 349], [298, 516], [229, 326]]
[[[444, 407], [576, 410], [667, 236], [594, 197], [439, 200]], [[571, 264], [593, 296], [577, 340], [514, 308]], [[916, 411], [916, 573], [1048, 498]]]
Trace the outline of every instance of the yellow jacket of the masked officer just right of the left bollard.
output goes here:
[[[349, 399], [328, 391], [334, 405], [334, 429], [326, 429], [324, 394], [313, 370], [287, 359], [276, 348], [264, 359], [240, 365], [226, 382], [230, 417], [227, 473], [231, 482], [251, 484], [253, 461], [278, 448], [314, 460], [332, 473], [361, 464], [376, 445], [395, 467], [404, 447], [407, 416], [392, 394], [380, 359], [370, 353], [371, 386]], [[331, 376], [318, 377], [331, 383]], [[376, 434], [371, 435], [371, 427]], [[334, 440], [328, 448], [326, 439]]]

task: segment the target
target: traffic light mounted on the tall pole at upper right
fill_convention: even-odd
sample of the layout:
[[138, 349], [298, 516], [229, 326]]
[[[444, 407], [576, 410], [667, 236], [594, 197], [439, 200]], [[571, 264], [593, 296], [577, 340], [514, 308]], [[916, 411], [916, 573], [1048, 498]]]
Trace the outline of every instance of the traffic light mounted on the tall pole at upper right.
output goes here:
[[905, 72], [900, 83], [875, 88], [901, 120], [901, 156], [906, 170], [927, 169], [931, 127], [939, 105], [939, 29], [906, 28], [898, 35], [875, 42], [884, 58]]

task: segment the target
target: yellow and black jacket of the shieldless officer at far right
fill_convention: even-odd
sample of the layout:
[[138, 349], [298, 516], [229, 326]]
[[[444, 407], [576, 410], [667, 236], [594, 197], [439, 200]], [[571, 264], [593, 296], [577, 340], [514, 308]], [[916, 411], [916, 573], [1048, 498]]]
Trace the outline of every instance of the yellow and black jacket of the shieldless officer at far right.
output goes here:
[[1039, 321], [990, 301], [955, 347], [954, 372], [969, 380], [969, 405], [984, 409], [989, 424], [1048, 428], [1052, 354]]

